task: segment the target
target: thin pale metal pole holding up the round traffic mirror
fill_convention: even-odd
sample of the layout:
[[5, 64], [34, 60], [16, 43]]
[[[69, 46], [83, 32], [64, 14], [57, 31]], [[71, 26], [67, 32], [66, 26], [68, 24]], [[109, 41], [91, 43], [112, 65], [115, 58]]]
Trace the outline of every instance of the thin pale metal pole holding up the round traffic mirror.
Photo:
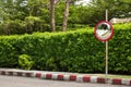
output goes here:
[[[108, 22], [108, 10], [106, 10], [106, 22]], [[108, 41], [106, 41], [106, 66], [105, 66], [105, 71], [106, 71], [106, 83], [107, 83], [107, 76], [108, 76]]]

